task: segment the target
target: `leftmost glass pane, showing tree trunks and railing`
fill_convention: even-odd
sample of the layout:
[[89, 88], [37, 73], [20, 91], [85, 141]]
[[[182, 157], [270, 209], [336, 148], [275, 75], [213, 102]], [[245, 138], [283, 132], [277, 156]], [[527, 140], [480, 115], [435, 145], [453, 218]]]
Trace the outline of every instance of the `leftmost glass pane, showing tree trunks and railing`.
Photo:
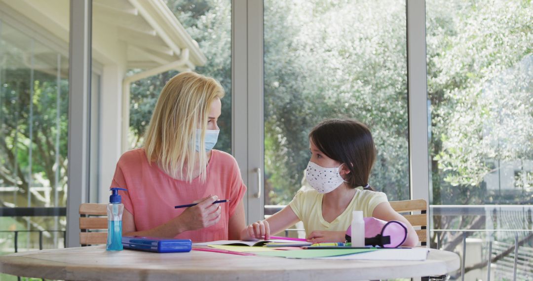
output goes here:
[[63, 247], [64, 215], [6, 214], [12, 207], [66, 207], [69, 1], [2, 5], [0, 253]]

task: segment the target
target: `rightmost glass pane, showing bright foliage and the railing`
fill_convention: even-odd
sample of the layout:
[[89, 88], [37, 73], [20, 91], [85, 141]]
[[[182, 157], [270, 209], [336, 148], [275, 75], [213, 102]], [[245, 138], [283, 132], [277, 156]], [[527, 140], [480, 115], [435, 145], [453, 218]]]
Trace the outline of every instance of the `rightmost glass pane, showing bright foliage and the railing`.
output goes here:
[[470, 279], [487, 277], [490, 241], [491, 279], [513, 278], [515, 239], [518, 276], [532, 274], [531, 14], [531, 1], [426, 2], [431, 242], [466, 255]]

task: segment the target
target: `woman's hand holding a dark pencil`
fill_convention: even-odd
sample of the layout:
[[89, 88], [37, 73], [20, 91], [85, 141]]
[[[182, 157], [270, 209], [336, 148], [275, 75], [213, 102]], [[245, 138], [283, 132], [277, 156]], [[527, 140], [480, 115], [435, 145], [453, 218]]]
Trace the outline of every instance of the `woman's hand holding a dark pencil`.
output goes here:
[[177, 227], [183, 231], [196, 230], [219, 222], [221, 208], [219, 204], [213, 204], [218, 198], [215, 195], [193, 202], [198, 204], [185, 209], [180, 216], [175, 218]]

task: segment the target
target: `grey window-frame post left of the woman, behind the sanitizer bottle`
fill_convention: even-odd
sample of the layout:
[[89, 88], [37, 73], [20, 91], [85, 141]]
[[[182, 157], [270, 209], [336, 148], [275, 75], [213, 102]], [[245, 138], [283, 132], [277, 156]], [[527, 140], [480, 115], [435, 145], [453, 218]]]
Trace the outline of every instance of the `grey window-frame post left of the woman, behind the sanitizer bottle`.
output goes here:
[[70, 1], [67, 247], [79, 246], [79, 205], [88, 199], [92, 0]]

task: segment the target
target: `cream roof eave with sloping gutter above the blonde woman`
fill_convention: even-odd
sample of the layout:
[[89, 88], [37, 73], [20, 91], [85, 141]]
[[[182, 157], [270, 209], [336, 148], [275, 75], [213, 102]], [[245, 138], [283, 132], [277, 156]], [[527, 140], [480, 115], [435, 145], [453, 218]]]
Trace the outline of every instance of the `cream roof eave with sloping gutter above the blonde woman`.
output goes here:
[[161, 0], [94, 0], [93, 21], [117, 28], [126, 45], [127, 69], [154, 69], [188, 59], [177, 70], [194, 69], [207, 61], [198, 43]]

